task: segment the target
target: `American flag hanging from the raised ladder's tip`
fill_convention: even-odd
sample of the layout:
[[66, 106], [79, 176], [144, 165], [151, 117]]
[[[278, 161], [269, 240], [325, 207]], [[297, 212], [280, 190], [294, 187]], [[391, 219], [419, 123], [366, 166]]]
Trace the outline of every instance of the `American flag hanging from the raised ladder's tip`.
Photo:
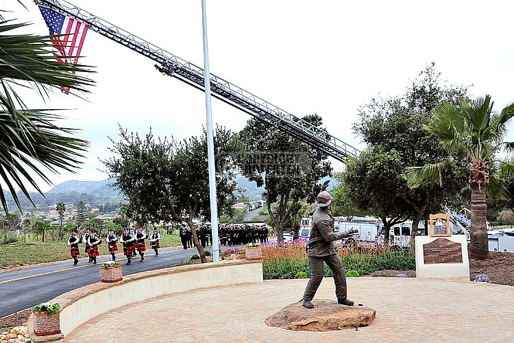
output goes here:
[[[57, 60], [66, 64], [77, 64], [89, 25], [44, 6], [39, 6], [39, 10], [47, 23], [50, 35], [53, 36], [51, 40], [57, 49]], [[61, 89], [66, 94], [70, 91], [69, 87], [61, 86]]]

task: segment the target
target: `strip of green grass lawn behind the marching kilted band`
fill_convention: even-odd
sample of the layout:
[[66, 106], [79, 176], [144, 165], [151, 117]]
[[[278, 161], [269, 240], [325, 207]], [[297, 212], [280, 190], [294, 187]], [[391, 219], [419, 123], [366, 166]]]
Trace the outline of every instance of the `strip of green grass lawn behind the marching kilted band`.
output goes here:
[[[161, 233], [160, 247], [168, 248], [171, 246], [180, 246], [180, 237], [178, 231], [172, 235]], [[23, 237], [22, 237], [23, 239]], [[66, 238], [67, 239], [67, 238]], [[149, 241], [146, 241], [147, 249], [149, 249]], [[87, 257], [84, 252], [84, 244], [79, 244], [80, 256]], [[100, 255], [108, 255], [109, 251], [105, 242], [105, 237], [102, 237], [102, 244], [98, 246]], [[118, 251], [123, 252], [123, 246], [118, 244]], [[12, 244], [0, 246], [0, 268], [11, 268], [20, 265], [30, 265], [36, 263], [63, 261], [69, 259], [70, 247], [67, 241], [45, 241], [44, 243], [22, 243], [16, 242]]]

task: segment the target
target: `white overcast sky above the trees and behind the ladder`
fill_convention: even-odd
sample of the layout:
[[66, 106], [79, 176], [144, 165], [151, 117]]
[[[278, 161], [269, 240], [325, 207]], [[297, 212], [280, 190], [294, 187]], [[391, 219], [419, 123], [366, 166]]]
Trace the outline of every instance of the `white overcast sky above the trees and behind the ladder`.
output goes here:
[[[204, 66], [200, 0], [72, 0], [127, 32], [171, 54]], [[32, 1], [1, 1], [8, 18], [47, 27]], [[6, 5], [7, 4], [7, 5]], [[514, 45], [508, 1], [301, 1], [206, 0], [210, 72], [283, 110], [316, 113], [335, 137], [363, 149], [352, 124], [374, 97], [402, 95], [411, 80], [435, 62], [448, 84], [471, 86], [473, 96], [491, 94], [495, 109], [514, 99]], [[97, 85], [87, 101], [53, 93], [47, 108], [66, 108], [64, 124], [91, 142], [78, 174], [66, 180], [106, 178], [108, 137], [119, 140], [118, 123], [144, 137], [184, 139], [201, 134], [205, 95], [161, 75], [154, 61], [89, 31], [79, 62], [95, 67]], [[41, 106], [29, 93], [29, 107]], [[249, 115], [212, 99], [212, 119], [234, 131]], [[512, 136], [512, 135], [511, 135]], [[341, 169], [341, 165], [334, 165]], [[51, 186], [40, 183], [43, 191]]]

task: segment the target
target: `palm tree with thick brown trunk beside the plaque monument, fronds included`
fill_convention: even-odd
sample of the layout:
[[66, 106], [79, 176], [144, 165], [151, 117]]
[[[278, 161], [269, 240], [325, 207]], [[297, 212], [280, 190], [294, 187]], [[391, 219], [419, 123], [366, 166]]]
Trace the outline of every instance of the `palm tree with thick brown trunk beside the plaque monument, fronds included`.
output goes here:
[[[456, 105], [441, 104], [436, 108], [432, 122], [426, 126], [426, 130], [439, 139], [444, 150], [450, 154], [464, 154], [469, 160], [468, 184], [472, 204], [469, 257], [472, 259], [486, 259], [489, 254], [486, 188], [491, 180], [489, 191], [494, 190], [495, 196], [500, 194], [501, 180], [491, 174], [491, 169], [495, 168], [493, 158], [500, 149], [512, 150], [514, 147], [514, 142], [503, 141], [507, 122], [513, 116], [514, 103], [500, 113], [493, 112], [491, 95], [486, 95], [475, 100], [459, 101]], [[425, 165], [409, 171], [412, 187], [430, 182], [441, 183], [441, 180], [438, 165]]]

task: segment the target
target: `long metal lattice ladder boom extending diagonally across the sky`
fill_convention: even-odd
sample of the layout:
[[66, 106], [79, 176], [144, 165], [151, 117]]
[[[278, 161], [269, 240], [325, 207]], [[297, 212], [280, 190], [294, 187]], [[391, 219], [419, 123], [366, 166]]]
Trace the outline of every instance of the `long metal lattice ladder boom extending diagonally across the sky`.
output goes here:
[[[34, 3], [89, 24], [89, 29], [157, 62], [155, 67], [160, 73], [172, 76], [190, 86], [205, 91], [204, 69], [197, 67], [195, 64], [183, 60], [67, 1], [34, 0]], [[252, 115], [260, 121], [276, 126], [276, 128], [312, 147], [322, 149], [328, 156], [345, 162], [348, 157], [355, 158], [360, 154], [360, 151], [355, 147], [333, 137], [326, 130], [317, 128], [311, 123], [287, 113], [243, 88], [235, 86], [212, 73], [210, 73], [209, 78], [213, 97]]]

